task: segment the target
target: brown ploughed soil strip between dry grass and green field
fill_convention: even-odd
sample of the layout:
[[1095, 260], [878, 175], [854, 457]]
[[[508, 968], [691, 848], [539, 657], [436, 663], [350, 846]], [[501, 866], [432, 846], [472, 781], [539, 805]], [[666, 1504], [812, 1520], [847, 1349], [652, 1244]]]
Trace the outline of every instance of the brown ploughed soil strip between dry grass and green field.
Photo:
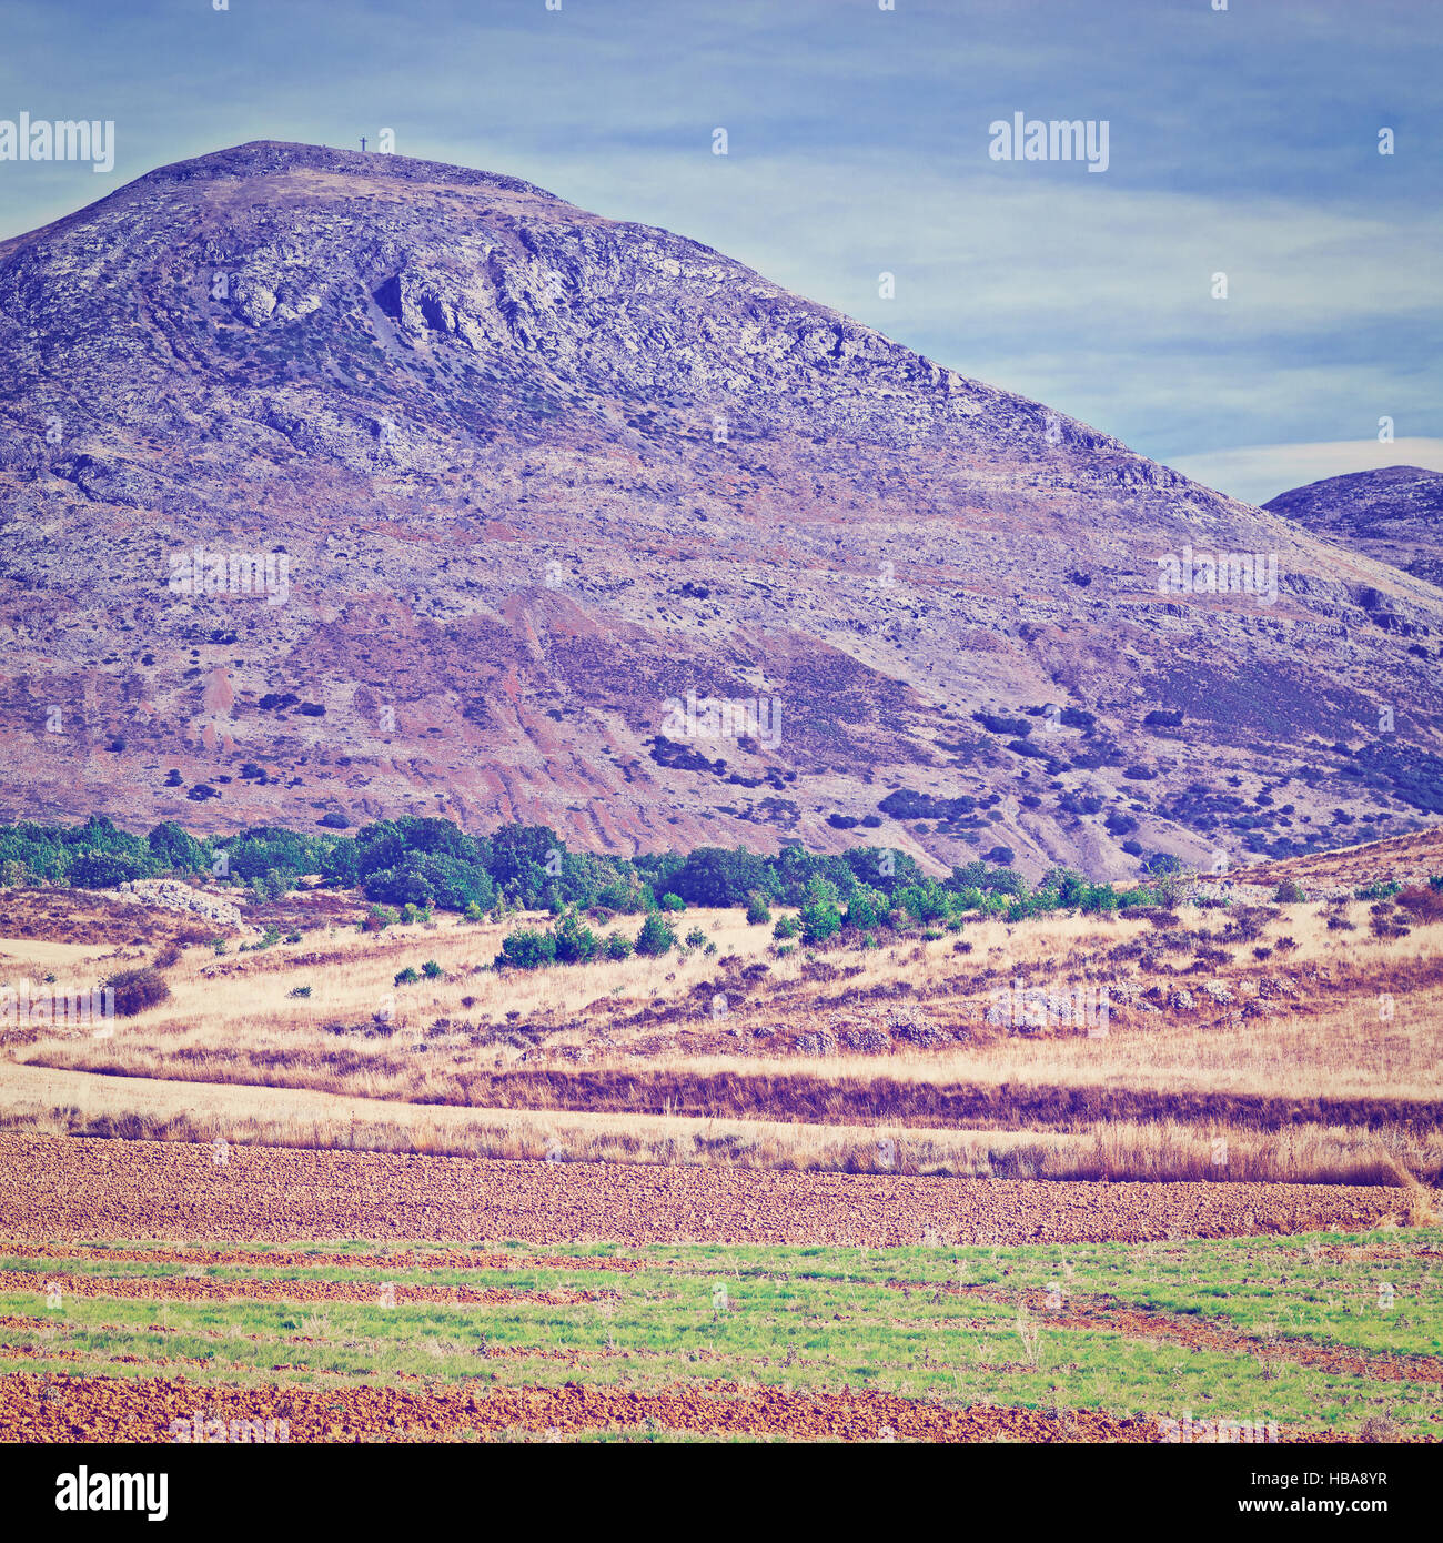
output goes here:
[[1397, 1216], [1398, 1190], [1071, 1183], [738, 1168], [497, 1162], [0, 1136], [0, 1237], [895, 1247], [1139, 1242]]

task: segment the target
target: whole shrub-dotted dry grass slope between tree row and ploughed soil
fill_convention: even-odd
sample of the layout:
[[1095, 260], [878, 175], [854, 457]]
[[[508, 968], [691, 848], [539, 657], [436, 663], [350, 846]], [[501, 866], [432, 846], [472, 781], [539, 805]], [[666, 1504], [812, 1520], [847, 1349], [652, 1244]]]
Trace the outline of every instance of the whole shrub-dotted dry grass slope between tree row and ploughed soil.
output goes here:
[[[8, 1028], [8, 1122], [918, 1173], [1443, 1173], [1443, 927], [1378, 937], [1369, 901], [1253, 904], [1245, 941], [1238, 907], [1184, 903], [818, 950], [693, 909], [682, 930], [707, 943], [679, 955], [498, 971], [505, 934], [545, 918], [367, 934], [358, 903], [313, 900], [286, 909], [295, 941], [244, 954], [134, 918], [110, 935], [96, 918], [88, 943], [0, 938], [11, 981], [88, 989], [161, 957], [170, 988], [99, 1029]], [[397, 984], [427, 961], [435, 978]], [[1025, 992], [1107, 1009], [1032, 1021]]]

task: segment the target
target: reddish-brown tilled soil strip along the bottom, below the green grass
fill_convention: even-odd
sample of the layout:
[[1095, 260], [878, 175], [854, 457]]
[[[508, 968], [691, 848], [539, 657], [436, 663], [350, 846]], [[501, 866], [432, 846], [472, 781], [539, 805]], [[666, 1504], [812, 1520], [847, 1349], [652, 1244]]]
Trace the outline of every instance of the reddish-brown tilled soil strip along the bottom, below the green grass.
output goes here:
[[[406, 1390], [218, 1387], [185, 1378], [131, 1381], [15, 1373], [0, 1378], [0, 1441], [173, 1441], [202, 1421], [284, 1420], [290, 1441], [437, 1441], [515, 1430], [557, 1438], [659, 1427], [698, 1435], [824, 1441], [1157, 1441], [1157, 1423], [1093, 1410], [952, 1409], [889, 1393], [787, 1393], [713, 1383], [636, 1393], [610, 1387]], [[184, 1430], [171, 1433], [171, 1421]], [[204, 1426], [202, 1426], [204, 1429]], [[1329, 1432], [1282, 1433], [1338, 1440]]]

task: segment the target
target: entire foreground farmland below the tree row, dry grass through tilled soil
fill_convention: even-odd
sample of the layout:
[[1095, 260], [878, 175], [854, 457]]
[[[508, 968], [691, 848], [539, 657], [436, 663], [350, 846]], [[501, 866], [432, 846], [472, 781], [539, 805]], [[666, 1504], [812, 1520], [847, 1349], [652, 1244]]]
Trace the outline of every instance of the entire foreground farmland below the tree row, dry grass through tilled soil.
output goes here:
[[1443, 924], [1355, 893], [1420, 842], [537, 971], [537, 915], [11, 890], [0, 1437], [1435, 1440]]

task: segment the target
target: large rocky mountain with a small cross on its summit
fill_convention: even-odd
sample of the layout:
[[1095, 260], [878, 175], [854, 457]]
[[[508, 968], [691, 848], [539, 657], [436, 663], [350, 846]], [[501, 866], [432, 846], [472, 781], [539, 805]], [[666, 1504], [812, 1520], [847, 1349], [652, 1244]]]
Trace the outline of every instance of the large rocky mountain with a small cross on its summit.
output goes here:
[[1111, 878], [1443, 809], [1434, 588], [514, 177], [162, 167], [0, 244], [0, 818]]

